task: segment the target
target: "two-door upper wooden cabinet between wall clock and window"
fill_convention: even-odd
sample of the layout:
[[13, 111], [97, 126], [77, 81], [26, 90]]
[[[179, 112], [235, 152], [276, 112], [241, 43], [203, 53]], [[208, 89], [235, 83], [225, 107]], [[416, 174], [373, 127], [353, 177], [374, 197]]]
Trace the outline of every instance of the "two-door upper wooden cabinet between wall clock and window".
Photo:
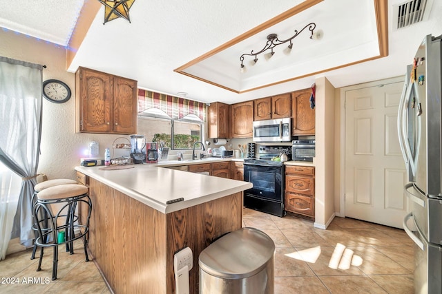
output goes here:
[[77, 132], [137, 133], [137, 81], [79, 67], [75, 91]]

